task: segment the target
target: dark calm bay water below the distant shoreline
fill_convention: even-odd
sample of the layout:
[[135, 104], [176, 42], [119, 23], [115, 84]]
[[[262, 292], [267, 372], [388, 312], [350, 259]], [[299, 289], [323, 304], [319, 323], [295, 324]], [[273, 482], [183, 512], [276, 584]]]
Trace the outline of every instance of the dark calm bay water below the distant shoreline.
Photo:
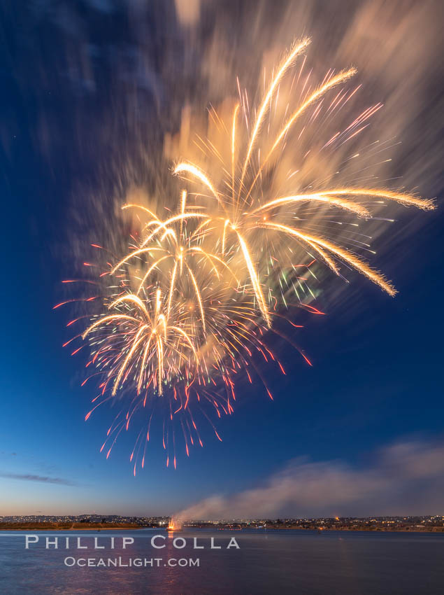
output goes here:
[[[1, 594], [443, 594], [444, 535], [431, 533], [348, 533], [329, 531], [141, 531], [36, 532], [25, 549], [23, 531], [0, 532]], [[153, 535], [157, 545], [151, 545]], [[59, 538], [45, 549], [45, 538]], [[80, 545], [88, 549], [77, 549]], [[110, 538], [115, 537], [115, 549]], [[70, 547], [65, 549], [66, 537]], [[94, 537], [105, 549], [94, 549]], [[122, 548], [122, 538], [134, 543]], [[185, 538], [182, 549], [173, 539]], [[193, 537], [204, 549], [193, 549]], [[210, 549], [210, 538], [222, 549]], [[239, 549], [227, 549], [234, 537]], [[177, 545], [182, 545], [179, 541]], [[153, 566], [80, 567], [73, 559], [121, 563], [141, 559]], [[199, 566], [189, 566], [199, 559]], [[169, 566], [169, 563], [187, 566]], [[185, 560], [185, 562], [183, 562]], [[171, 562], [169, 562], [171, 561]], [[159, 563], [159, 566], [157, 566]]]

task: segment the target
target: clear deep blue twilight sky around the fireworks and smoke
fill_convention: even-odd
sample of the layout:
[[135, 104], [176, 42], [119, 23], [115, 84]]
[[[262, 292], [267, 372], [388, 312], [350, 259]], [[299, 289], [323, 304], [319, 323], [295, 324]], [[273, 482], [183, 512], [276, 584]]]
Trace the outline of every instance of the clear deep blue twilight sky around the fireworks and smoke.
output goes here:
[[[77, 18], [89, 23], [99, 47], [129, 35], [124, 22], [117, 25], [88, 4]], [[359, 467], [369, 452], [402, 437], [441, 436], [444, 219], [438, 211], [415, 213], [419, 231], [392, 246], [396, 267], [388, 252], [378, 260], [399, 295], [391, 299], [354, 278], [348, 300], [321, 303], [329, 316], [310, 318], [298, 337], [313, 368], [285, 351], [287, 376], [271, 380], [275, 400], [256, 388], [240, 395], [234, 416], [220, 423], [223, 442], [203, 430], [206, 447], [182, 457], [176, 471], [165, 468], [161, 445], [153, 444], [145, 470], [133, 477], [133, 435], [122, 437], [106, 461], [99, 447], [110, 414], [83, 421], [94, 388], [80, 388], [81, 360], [62, 349], [68, 314], [52, 306], [72, 270], [59, 247], [73, 192], [79, 180], [94, 187], [93, 155], [106, 151], [103, 139], [94, 146], [94, 135], [101, 115], [113, 110], [113, 69], [104, 60], [94, 91], [73, 92], [69, 27], [56, 26], [43, 8], [37, 16], [24, 10], [20, 22], [12, 8], [2, 16], [0, 514], [168, 514], [212, 493], [254, 486], [298, 456]], [[153, 62], [162, 60], [155, 38]], [[147, 95], [141, 101], [149, 111]], [[427, 180], [435, 195], [440, 179], [438, 172]]]

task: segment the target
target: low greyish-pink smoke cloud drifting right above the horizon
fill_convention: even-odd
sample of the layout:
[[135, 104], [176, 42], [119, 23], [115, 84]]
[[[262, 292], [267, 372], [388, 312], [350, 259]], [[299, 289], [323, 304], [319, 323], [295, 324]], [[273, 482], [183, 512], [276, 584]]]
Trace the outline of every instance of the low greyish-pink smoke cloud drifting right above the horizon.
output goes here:
[[254, 489], [214, 495], [179, 519], [434, 514], [444, 508], [444, 444], [404, 441], [354, 468], [297, 458]]

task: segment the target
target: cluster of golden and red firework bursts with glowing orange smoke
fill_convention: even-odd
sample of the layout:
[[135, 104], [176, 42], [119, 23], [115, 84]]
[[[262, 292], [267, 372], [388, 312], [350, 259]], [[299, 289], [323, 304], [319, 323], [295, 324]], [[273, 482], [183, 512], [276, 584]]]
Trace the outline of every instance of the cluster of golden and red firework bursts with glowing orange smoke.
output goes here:
[[[312, 86], [310, 74], [303, 71], [308, 44], [304, 38], [285, 55], [256, 110], [241, 90], [227, 114], [209, 110], [215, 134], [196, 137], [200, 161], [184, 159], [173, 167], [187, 187], [180, 189], [166, 218], [152, 204], [122, 207], [138, 222], [138, 231], [131, 234], [127, 253], [107, 261], [101, 272], [106, 290], [94, 296], [102, 300], [103, 314], [77, 337], [89, 342], [87, 367], [94, 367], [92, 375], [101, 378], [92, 411], [117, 392], [128, 397], [126, 412], [117, 414], [103, 444], [102, 449], [108, 445], [107, 456], [131, 421], [143, 419], [147, 425], [131, 453], [134, 473], [138, 462], [142, 467], [145, 463], [146, 442], [142, 444], [145, 437], [150, 439], [159, 403], [169, 422], [163, 422], [166, 464], [172, 461], [176, 467], [173, 426], [179, 423], [189, 455], [192, 445], [203, 444], [196, 410], [212, 425], [208, 407], [218, 417], [231, 414], [236, 377], [245, 375], [250, 382], [259, 377], [271, 397], [255, 363], [257, 354], [283, 372], [267, 337], [274, 332], [299, 349], [276, 319], [296, 327], [294, 305], [322, 314], [304, 298], [314, 294], [301, 268], [314, 276], [311, 268], [319, 261], [342, 276], [345, 265], [389, 295], [396, 293], [357, 252], [369, 249], [362, 235], [338, 237], [331, 232], [332, 223], [371, 221], [373, 209], [383, 200], [434, 208], [431, 200], [405, 191], [350, 184], [341, 179], [341, 169], [333, 179], [321, 177], [317, 157], [322, 164], [346, 143], [355, 151], [357, 137], [382, 106], [368, 106], [343, 130], [322, 137], [326, 123], [334, 121], [357, 91], [343, 88], [355, 69], [330, 70]], [[298, 60], [302, 64], [295, 70]], [[336, 95], [329, 97], [333, 92]], [[313, 149], [301, 153], [305, 137]], [[308, 155], [314, 163], [309, 179], [297, 169]], [[353, 152], [350, 159], [357, 155]]]

